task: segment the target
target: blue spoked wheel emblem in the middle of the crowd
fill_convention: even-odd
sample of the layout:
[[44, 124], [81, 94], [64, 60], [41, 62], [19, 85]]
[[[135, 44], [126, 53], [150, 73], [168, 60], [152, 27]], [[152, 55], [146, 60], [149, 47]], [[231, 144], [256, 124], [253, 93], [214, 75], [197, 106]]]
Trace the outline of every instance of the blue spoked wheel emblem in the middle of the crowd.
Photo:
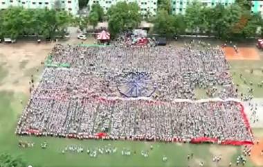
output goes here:
[[131, 72], [119, 77], [117, 88], [123, 96], [137, 98], [152, 96], [156, 85], [148, 73]]

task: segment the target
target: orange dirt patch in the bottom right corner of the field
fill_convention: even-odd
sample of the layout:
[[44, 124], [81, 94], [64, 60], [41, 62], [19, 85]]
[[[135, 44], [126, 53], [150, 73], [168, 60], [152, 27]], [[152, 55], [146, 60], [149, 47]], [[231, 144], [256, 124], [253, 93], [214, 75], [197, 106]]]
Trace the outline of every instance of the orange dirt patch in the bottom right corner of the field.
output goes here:
[[263, 166], [263, 153], [261, 153], [263, 151], [263, 138], [259, 140], [260, 143], [259, 144], [255, 143], [255, 145], [252, 147], [251, 160], [255, 165]]

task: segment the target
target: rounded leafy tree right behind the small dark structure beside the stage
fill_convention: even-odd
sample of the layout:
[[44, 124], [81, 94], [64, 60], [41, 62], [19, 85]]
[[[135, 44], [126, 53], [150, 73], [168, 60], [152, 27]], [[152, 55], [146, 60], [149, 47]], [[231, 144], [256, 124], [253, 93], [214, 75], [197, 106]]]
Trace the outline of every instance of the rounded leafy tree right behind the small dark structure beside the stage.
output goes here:
[[174, 35], [176, 33], [175, 19], [175, 17], [168, 14], [167, 10], [158, 10], [154, 19], [154, 32], [166, 37]]

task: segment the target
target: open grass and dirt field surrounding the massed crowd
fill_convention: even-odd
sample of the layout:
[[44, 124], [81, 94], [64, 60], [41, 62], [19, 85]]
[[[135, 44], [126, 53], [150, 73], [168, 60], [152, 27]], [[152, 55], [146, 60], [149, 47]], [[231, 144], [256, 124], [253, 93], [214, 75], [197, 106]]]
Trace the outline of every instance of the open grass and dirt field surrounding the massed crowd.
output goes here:
[[[242, 147], [234, 146], [218, 146], [211, 144], [182, 144], [182, 143], [153, 143], [139, 141], [95, 141], [75, 139], [59, 139], [44, 137], [17, 137], [15, 136], [15, 127], [17, 119], [27, 103], [29, 96], [29, 80], [33, 74], [35, 78], [39, 77], [46, 56], [51, 51], [53, 44], [0, 44], [0, 152], [9, 152], [12, 155], [23, 157], [30, 164], [44, 167], [86, 167], [86, 166], [199, 166], [200, 161], [204, 162], [204, 166], [228, 166], [232, 161], [242, 153]], [[231, 72], [235, 84], [238, 84], [239, 90], [247, 94], [248, 85], [240, 79], [240, 74], [253, 85], [254, 96], [256, 98], [263, 97], [263, 88], [257, 87], [257, 83], [263, 80], [263, 54], [256, 49], [258, 58], [249, 60], [243, 53], [241, 60], [229, 60]], [[252, 59], [252, 58], [251, 58]], [[253, 73], [251, 73], [253, 69]], [[200, 94], [202, 92], [200, 91]], [[262, 100], [263, 104], [263, 100]], [[263, 112], [263, 111], [259, 111]], [[261, 118], [260, 121], [262, 121]], [[263, 124], [262, 128], [263, 128]], [[263, 139], [263, 129], [253, 129], [256, 138]], [[32, 148], [19, 148], [19, 140], [34, 142]], [[48, 147], [41, 148], [41, 143], [47, 141]], [[263, 142], [263, 141], [262, 141]], [[104, 148], [108, 145], [116, 147], [118, 150], [111, 155], [100, 155], [96, 158], [89, 157], [87, 152], [66, 152], [62, 154], [61, 150], [66, 146], [82, 146], [83, 148]], [[152, 146], [152, 149], [151, 149]], [[262, 145], [261, 145], [262, 146]], [[258, 146], [258, 147], [261, 147]], [[123, 156], [121, 151], [123, 148], [131, 150], [129, 157]], [[257, 152], [263, 148], [257, 148]], [[143, 157], [140, 152], [149, 151], [149, 157]], [[188, 154], [193, 153], [193, 158], [188, 160]], [[258, 152], [260, 154], [260, 152]], [[215, 163], [212, 161], [214, 156], [222, 155], [221, 161]], [[163, 157], [167, 157], [167, 161], [163, 161]], [[260, 157], [259, 157], [260, 158]], [[257, 159], [259, 159], [257, 158]], [[263, 166], [260, 162], [253, 163], [250, 158], [246, 166]], [[262, 157], [263, 159], [263, 157]], [[255, 161], [255, 159], [254, 159]]]

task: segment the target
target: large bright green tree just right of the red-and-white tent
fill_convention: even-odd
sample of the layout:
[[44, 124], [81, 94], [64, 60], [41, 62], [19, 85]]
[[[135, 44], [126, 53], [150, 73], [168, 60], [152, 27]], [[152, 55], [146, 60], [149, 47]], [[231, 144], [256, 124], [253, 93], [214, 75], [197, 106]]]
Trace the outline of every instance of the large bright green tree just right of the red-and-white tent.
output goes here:
[[111, 37], [122, 32], [123, 30], [138, 27], [141, 21], [140, 8], [137, 3], [127, 3], [120, 1], [109, 8], [109, 32]]

